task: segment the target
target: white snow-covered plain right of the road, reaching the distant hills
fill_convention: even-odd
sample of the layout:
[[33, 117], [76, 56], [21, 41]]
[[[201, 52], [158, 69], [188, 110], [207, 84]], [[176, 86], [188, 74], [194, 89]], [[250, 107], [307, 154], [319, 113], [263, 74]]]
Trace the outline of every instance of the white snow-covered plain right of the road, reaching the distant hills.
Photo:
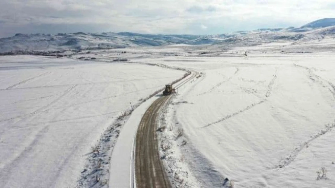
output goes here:
[[[334, 187], [335, 53], [278, 49], [285, 45], [231, 49], [247, 50], [247, 57], [227, 52], [161, 60], [204, 75], [179, 88], [162, 113], [161, 143], [169, 147], [161, 153], [173, 182], [222, 187], [228, 178], [246, 188]], [[327, 178], [317, 180], [322, 167]]]

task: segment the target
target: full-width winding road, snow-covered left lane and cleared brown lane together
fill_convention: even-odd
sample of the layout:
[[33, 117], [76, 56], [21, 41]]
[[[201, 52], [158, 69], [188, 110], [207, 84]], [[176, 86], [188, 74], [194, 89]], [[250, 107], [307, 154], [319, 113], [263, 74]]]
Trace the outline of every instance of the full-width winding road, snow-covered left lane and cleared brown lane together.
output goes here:
[[[178, 89], [198, 74], [198, 72], [192, 72], [191, 75], [176, 83], [174, 87]], [[138, 187], [171, 187], [169, 180], [164, 175], [165, 170], [158, 155], [158, 143], [154, 139], [156, 138], [155, 127], [158, 111], [170, 97], [161, 97], [161, 93], [159, 93], [134, 110], [113, 150], [109, 187], [133, 187], [135, 184]], [[141, 131], [142, 129], [145, 131]], [[136, 149], [134, 148], [135, 136]], [[147, 166], [148, 164], [150, 166]]]

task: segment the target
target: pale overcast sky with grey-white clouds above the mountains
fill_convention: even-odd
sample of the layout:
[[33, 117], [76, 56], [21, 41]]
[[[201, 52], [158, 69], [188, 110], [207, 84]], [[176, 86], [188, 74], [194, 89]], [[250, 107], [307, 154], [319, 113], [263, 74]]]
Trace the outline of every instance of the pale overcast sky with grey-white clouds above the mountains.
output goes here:
[[220, 34], [335, 17], [335, 0], [0, 0], [0, 38], [15, 33]]

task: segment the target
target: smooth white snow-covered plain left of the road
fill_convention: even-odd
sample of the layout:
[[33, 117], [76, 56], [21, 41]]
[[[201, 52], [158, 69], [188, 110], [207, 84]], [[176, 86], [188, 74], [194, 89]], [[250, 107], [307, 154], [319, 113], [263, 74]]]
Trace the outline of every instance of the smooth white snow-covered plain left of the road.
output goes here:
[[0, 57], [0, 187], [75, 187], [91, 146], [121, 114], [184, 71]]

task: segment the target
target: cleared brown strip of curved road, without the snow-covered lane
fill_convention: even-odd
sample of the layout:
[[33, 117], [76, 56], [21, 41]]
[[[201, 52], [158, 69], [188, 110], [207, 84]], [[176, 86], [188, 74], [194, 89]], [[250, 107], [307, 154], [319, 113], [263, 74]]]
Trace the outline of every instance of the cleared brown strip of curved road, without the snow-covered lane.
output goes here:
[[[192, 72], [187, 79], [176, 84], [182, 86], [199, 73]], [[171, 96], [162, 96], [155, 100], [143, 115], [136, 134], [136, 147], [134, 158], [134, 171], [137, 188], [171, 188], [164, 165], [159, 157], [157, 140], [157, 120], [159, 110], [166, 104]]]

